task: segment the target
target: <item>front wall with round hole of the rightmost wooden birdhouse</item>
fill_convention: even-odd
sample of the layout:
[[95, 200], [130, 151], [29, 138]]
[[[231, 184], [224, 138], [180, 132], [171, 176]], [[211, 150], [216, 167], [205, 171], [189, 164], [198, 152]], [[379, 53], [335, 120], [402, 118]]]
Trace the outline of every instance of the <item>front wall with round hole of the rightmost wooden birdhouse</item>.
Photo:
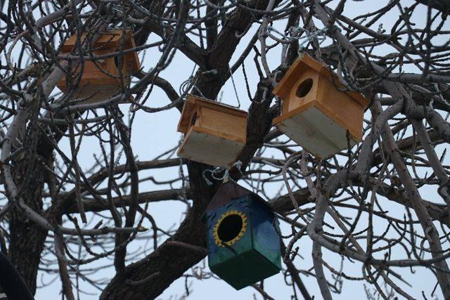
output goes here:
[[[283, 102], [283, 113], [290, 112], [295, 110], [297, 107], [301, 107], [302, 105], [306, 105], [317, 98], [318, 93], [318, 85], [319, 85], [319, 73], [316, 71], [305, 67], [306, 70], [300, 74], [295, 84], [293, 84], [293, 88], [290, 90], [289, 96]], [[312, 80], [312, 85], [309, 91], [302, 97], [298, 96], [299, 88], [302, 87], [308, 88], [309, 79]], [[306, 85], [306, 86], [305, 86]], [[305, 91], [305, 90], [304, 90]], [[304, 92], [303, 91], [303, 92]], [[300, 91], [302, 92], [302, 91]]]

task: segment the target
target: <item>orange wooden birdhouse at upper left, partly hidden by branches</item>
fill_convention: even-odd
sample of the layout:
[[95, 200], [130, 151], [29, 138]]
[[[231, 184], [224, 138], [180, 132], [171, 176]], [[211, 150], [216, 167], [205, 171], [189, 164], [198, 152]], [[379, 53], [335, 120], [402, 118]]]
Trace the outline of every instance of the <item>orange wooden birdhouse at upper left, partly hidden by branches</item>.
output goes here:
[[[84, 40], [86, 34], [82, 34]], [[61, 53], [77, 56], [74, 47], [77, 44], [77, 36], [70, 37], [61, 47]], [[101, 36], [89, 46], [89, 51], [84, 51], [84, 56], [92, 53], [94, 56], [113, 55], [120, 51], [134, 48], [134, 39], [130, 30], [111, 30]], [[78, 65], [58, 82], [58, 88], [68, 93], [75, 89], [72, 100], [84, 100], [84, 103], [96, 103], [106, 100], [119, 92], [122, 84], [127, 86], [131, 80], [131, 74], [140, 69], [139, 58], [135, 51], [125, 52], [122, 56], [84, 60], [83, 67]], [[121, 72], [120, 72], [121, 71]], [[82, 74], [81, 74], [82, 72]], [[68, 80], [70, 77], [70, 80]]]

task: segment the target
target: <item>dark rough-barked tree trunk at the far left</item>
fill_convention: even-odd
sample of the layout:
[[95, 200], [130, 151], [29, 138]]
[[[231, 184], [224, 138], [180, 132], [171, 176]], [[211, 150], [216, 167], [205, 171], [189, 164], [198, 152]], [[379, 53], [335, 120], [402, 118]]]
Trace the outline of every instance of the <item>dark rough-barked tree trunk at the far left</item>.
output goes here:
[[[56, 115], [56, 117], [59, 117]], [[65, 125], [49, 126], [54, 142], [58, 143], [67, 130]], [[37, 136], [25, 136], [23, 144], [26, 152], [13, 160], [13, 177], [18, 187], [20, 198], [28, 207], [43, 214], [42, 189], [46, 181], [44, 163], [51, 166], [54, 144], [46, 131], [40, 131]], [[36, 151], [32, 151], [35, 149]], [[19, 207], [13, 207], [9, 214], [10, 244], [9, 256], [11, 262], [23, 276], [23, 280], [32, 294], [36, 293], [37, 271], [41, 261], [41, 253], [48, 231], [23, 216]], [[52, 219], [46, 216], [46, 219]], [[51, 220], [50, 220], [51, 221]]]

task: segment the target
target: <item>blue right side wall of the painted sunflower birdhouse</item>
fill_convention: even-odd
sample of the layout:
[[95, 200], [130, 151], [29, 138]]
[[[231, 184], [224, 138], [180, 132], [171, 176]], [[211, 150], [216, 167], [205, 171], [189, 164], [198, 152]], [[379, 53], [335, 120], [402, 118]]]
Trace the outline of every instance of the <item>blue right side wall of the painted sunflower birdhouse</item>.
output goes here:
[[280, 237], [276, 232], [278, 220], [274, 211], [252, 196], [250, 216], [253, 248], [271, 262], [271, 272], [278, 273], [281, 270], [281, 249]]

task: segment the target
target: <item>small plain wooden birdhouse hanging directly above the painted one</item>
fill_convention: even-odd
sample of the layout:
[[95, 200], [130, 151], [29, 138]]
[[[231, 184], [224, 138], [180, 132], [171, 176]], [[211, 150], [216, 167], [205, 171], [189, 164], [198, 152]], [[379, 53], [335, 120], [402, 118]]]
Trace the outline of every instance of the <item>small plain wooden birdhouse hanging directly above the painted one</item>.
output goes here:
[[184, 133], [179, 157], [230, 169], [245, 145], [247, 112], [188, 95], [178, 131]]

